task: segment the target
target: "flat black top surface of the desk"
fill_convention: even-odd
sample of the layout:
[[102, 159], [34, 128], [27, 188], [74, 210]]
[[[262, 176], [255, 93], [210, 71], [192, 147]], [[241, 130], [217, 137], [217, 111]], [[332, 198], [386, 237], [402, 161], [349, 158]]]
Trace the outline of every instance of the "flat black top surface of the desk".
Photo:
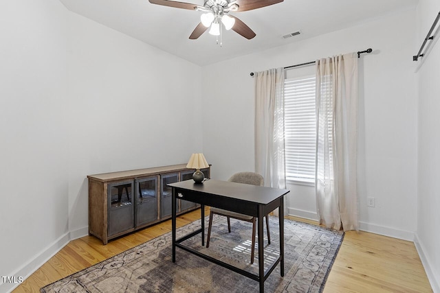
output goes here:
[[220, 180], [206, 180], [201, 184], [194, 183], [193, 180], [185, 180], [177, 183], [168, 184], [170, 187], [186, 189], [188, 191], [201, 192], [203, 194], [212, 194], [215, 196], [224, 196], [245, 200], [257, 204], [268, 204], [281, 196], [289, 193], [287, 189], [278, 189], [272, 187], [263, 187], [258, 185], [249, 185]]

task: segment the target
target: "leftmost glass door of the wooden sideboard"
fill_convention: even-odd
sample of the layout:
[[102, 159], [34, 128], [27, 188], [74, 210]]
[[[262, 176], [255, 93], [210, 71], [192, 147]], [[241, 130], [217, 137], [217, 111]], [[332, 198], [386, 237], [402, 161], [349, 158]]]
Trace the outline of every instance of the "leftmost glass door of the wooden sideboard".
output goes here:
[[115, 235], [134, 228], [133, 181], [109, 183], [108, 235]]

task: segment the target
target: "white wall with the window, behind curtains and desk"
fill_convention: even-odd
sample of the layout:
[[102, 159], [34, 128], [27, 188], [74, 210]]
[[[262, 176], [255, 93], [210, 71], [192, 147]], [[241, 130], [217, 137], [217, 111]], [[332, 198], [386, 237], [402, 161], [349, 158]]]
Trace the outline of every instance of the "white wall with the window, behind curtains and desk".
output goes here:
[[[214, 178], [254, 170], [254, 80], [251, 71], [336, 54], [360, 58], [359, 196], [361, 228], [413, 239], [417, 204], [417, 99], [412, 64], [415, 10], [203, 67], [203, 152]], [[228, 159], [225, 159], [228, 158]], [[289, 211], [316, 216], [314, 187], [294, 187]], [[366, 198], [376, 207], [367, 208]]]

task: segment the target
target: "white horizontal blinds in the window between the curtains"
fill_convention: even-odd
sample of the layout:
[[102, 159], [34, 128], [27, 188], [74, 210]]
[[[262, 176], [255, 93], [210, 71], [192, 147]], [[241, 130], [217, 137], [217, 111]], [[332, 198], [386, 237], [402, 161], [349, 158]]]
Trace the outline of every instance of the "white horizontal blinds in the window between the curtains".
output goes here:
[[285, 170], [287, 180], [314, 183], [316, 158], [316, 78], [285, 80]]

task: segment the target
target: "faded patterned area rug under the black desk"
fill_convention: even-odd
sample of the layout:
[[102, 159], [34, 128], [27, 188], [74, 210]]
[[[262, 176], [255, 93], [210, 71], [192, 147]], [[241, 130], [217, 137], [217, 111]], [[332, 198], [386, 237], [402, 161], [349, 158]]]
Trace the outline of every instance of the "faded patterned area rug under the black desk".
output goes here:
[[[206, 218], [206, 229], [208, 227]], [[265, 238], [265, 266], [279, 255], [278, 218], [270, 217], [271, 244]], [[200, 227], [200, 220], [177, 230], [177, 237]], [[265, 237], [266, 229], [264, 229]], [[250, 264], [252, 224], [231, 219], [231, 233], [224, 217], [214, 215], [210, 247], [201, 246], [200, 235], [186, 246], [258, 274], [258, 248]], [[265, 292], [322, 292], [344, 233], [285, 220], [285, 277], [279, 265], [265, 281]], [[259, 283], [201, 257], [176, 248], [171, 260], [171, 233], [131, 248], [41, 288], [41, 292], [240, 292], [259, 291]]]

